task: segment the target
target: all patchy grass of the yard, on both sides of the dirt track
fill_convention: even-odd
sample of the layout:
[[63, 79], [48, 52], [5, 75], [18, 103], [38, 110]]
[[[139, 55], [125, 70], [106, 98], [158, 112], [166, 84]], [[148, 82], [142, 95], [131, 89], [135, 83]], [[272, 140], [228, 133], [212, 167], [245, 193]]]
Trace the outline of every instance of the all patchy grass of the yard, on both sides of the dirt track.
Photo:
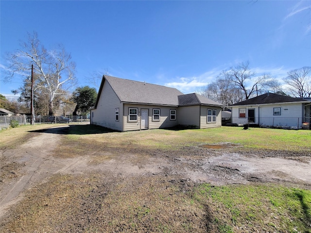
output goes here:
[[[61, 126], [55, 124], [53, 126]], [[25, 142], [33, 130], [0, 132], [0, 146]], [[70, 125], [59, 145], [80, 155], [92, 148], [178, 150], [185, 146], [232, 143], [239, 150], [311, 152], [311, 131], [221, 127], [206, 130], [113, 132]], [[60, 152], [60, 151], [58, 151]], [[55, 174], [25, 194], [3, 232], [311, 233], [311, 190], [275, 183], [212, 186], [171, 176], [107, 180], [105, 174]]]

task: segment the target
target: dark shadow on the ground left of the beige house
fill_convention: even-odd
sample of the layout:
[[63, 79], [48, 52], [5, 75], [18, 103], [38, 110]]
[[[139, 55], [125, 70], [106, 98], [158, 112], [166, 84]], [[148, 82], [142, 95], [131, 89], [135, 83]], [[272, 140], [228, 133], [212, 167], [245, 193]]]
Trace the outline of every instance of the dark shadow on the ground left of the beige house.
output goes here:
[[58, 127], [42, 130], [31, 130], [32, 133], [55, 133], [55, 134], [99, 134], [118, 132], [98, 125], [69, 125], [69, 127]]

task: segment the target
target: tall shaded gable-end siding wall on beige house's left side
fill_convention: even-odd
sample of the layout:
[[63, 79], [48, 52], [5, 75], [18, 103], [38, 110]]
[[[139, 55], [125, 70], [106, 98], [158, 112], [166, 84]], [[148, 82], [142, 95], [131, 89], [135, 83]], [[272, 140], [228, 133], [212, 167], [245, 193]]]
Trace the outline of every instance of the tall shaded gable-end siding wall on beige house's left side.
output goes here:
[[[119, 121], [115, 120], [115, 109], [119, 108]], [[94, 111], [95, 110], [95, 111]], [[97, 109], [94, 109], [93, 124], [103, 127], [123, 131], [123, 108], [119, 98], [112, 90], [108, 82], [104, 83]]]

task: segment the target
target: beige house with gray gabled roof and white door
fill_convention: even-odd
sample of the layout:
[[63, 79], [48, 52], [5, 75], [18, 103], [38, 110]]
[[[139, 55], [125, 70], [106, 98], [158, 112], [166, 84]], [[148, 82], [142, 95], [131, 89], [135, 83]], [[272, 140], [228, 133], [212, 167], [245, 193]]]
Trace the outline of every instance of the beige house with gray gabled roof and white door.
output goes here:
[[196, 93], [104, 75], [90, 123], [117, 131], [221, 127], [224, 105]]

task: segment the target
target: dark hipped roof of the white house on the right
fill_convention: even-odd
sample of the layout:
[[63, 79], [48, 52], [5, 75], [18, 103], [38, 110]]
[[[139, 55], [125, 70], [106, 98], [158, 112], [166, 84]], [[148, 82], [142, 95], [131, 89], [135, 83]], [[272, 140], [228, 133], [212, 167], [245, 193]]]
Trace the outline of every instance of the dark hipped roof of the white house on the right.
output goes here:
[[230, 106], [239, 106], [239, 105], [251, 105], [251, 104], [268, 104], [268, 103], [286, 103], [286, 102], [301, 102], [306, 101], [300, 98], [293, 98], [289, 96], [277, 95], [274, 93], [266, 93], [252, 99], [244, 100]]

